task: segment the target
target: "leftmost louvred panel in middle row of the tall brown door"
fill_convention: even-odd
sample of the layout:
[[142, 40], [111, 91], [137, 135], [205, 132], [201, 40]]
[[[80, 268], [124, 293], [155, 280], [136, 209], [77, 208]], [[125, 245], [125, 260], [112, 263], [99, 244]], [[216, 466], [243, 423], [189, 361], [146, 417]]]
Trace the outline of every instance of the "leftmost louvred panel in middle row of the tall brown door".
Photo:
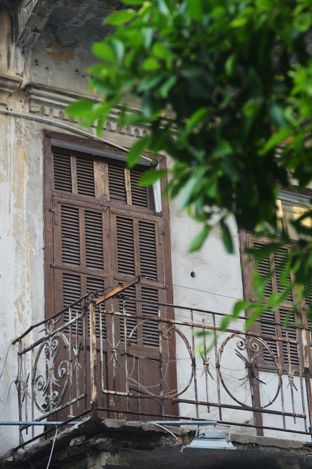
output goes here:
[[80, 265], [78, 209], [62, 205], [61, 224], [63, 264]]

